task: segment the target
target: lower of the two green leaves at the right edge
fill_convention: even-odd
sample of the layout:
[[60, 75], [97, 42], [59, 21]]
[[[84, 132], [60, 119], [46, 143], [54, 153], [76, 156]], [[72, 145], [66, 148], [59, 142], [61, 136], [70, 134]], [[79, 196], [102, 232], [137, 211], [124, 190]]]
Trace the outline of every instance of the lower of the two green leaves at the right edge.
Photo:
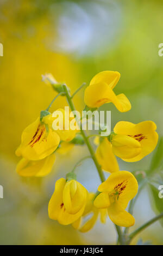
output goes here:
[[[163, 184], [163, 183], [162, 183]], [[158, 186], [159, 188], [159, 186]], [[163, 212], [163, 198], [159, 198], [159, 192], [160, 190], [157, 187], [155, 187], [153, 184], [149, 184], [149, 189], [152, 195], [151, 204], [153, 207], [153, 210], [156, 214]], [[160, 219], [160, 224], [163, 227], [163, 219]]]

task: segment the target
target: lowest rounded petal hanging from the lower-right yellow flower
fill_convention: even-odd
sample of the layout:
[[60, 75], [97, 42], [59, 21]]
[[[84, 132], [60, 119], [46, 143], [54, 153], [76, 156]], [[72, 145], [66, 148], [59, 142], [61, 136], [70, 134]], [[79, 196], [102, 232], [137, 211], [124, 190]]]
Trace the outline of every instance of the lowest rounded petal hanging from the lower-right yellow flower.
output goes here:
[[131, 227], [135, 219], [129, 212], [122, 209], [118, 203], [112, 203], [108, 207], [108, 215], [113, 223], [121, 227]]

